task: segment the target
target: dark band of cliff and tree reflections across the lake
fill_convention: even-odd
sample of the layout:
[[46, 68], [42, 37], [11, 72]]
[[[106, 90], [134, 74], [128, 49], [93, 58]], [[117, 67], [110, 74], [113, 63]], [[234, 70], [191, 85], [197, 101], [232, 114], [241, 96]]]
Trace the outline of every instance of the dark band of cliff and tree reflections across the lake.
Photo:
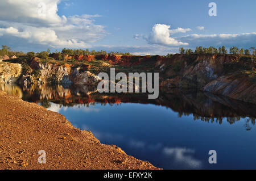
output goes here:
[[[49, 102], [62, 106], [72, 107], [78, 104], [121, 104], [121, 103], [141, 103], [156, 104], [171, 108], [183, 115], [193, 115], [194, 119], [203, 121], [222, 123], [224, 117], [232, 124], [241, 118], [249, 117], [247, 122], [255, 123], [256, 105], [238, 100], [217, 96], [208, 92], [184, 92], [172, 90], [168, 93], [160, 92], [158, 99], [148, 99], [147, 94], [100, 94], [89, 87], [64, 87], [61, 85], [47, 86], [33, 85], [22, 87], [17, 85], [2, 85], [0, 89], [9, 94], [17, 95], [28, 102], [41, 103], [44, 107], [49, 107]], [[249, 128], [248, 128], [249, 129]]]

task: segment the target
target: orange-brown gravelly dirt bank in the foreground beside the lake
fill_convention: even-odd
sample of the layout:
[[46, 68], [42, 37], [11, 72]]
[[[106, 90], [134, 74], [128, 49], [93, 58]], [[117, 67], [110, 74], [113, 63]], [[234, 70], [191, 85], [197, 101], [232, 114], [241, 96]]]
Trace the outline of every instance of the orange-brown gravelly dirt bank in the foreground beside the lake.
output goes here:
[[[46, 164], [38, 151], [46, 151]], [[156, 169], [63, 115], [0, 91], [0, 169]]]

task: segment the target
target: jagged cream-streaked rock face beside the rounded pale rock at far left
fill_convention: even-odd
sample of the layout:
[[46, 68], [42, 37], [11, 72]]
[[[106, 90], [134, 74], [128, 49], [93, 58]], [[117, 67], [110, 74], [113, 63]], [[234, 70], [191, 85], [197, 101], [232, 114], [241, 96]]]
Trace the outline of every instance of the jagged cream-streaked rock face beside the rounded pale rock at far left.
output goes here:
[[97, 75], [90, 73], [90, 71], [85, 71], [89, 66], [72, 69], [70, 64], [60, 65], [32, 60], [30, 67], [32, 72], [28, 71], [28, 73], [23, 74], [19, 79], [19, 83], [22, 83], [24, 86], [53, 83], [57, 85], [74, 84], [97, 87], [98, 82], [101, 81]]

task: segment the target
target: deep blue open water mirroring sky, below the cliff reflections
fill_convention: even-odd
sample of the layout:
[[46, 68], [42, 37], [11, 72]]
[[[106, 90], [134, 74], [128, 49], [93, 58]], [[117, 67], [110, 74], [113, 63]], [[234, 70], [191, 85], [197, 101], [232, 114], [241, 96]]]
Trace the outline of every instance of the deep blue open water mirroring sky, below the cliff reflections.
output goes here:
[[[247, 118], [232, 125], [224, 119], [220, 125], [136, 103], [63, 107], [57, 112], [75, 127], [92, 131], [102, 143], [164, 169], [256, 168], [256, 132], [254, 127], [246, 131]], [[217, 151], [216, 165], [208, 162], [209, 150]]]

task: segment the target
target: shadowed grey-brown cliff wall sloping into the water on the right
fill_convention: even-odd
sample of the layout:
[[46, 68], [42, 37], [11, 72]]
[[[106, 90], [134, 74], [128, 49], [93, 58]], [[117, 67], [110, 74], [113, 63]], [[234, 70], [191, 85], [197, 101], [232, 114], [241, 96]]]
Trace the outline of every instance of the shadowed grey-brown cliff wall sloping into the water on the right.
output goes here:
[[255, 62], [239, 56], [176, 54], [156, 62], [161, 87], [197, 89], [256, 103]]

